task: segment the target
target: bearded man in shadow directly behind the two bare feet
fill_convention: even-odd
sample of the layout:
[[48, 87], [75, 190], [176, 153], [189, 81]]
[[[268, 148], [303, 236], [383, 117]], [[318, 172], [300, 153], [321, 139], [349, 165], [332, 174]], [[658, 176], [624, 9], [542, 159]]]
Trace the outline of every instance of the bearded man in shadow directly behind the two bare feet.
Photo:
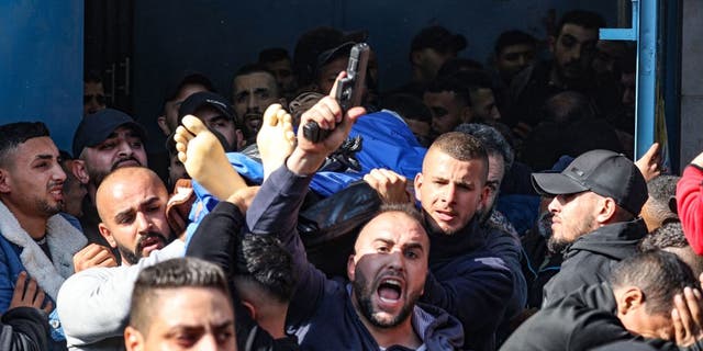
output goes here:
[[264, 111], [274, 103], [284, 104], [274, 75], [259, 65], [239, 68], [232, 82], [232, 105], [244, 124], [247, 145], [256, 143]]

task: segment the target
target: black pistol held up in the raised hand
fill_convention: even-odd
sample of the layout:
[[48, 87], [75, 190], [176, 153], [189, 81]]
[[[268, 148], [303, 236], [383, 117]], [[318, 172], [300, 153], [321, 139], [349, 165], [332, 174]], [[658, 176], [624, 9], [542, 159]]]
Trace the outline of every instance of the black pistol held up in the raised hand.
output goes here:
[[[361, 104], [364, 84], [366, 83], [366, 67], [369, 60], [370, 47], [359, 43], [352, 47], [346, 77], [339, 79], [334, 92], [335, 99], [345, 114], [349, 109]], [[303, 126], [303, 136], [313, 143], [324, 140], [334, 129], [323, 129], [315, 121], [309, 121]]]

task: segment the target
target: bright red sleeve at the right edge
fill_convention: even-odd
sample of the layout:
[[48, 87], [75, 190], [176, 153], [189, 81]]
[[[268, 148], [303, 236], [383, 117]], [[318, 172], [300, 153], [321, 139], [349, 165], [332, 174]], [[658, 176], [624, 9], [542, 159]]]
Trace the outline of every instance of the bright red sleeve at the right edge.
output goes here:
[[703, 170], [690, 165], [677, 184], [677, 207], [683, 233], [696, 254], [703, 254]]

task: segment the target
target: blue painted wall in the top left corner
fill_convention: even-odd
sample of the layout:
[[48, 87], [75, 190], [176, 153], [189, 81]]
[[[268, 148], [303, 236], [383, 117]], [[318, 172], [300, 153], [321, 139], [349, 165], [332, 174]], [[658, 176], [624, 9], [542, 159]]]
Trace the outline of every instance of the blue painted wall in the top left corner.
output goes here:
[[0, 124], [43, 121], [70, 150], [82, 67], [82, 0], [0, 1]]

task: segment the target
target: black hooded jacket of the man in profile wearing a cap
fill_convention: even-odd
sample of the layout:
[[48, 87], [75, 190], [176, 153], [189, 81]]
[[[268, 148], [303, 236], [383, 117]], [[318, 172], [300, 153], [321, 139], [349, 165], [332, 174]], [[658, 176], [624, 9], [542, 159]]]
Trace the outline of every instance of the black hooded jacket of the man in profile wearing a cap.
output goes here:
[[588, 285], [607, 281], [615, 263], [635, 254], [647, 234], [641, 219], [610, 224], [578, 238], [563, 253], [561, 270], [545, 285], [547, 306]]

